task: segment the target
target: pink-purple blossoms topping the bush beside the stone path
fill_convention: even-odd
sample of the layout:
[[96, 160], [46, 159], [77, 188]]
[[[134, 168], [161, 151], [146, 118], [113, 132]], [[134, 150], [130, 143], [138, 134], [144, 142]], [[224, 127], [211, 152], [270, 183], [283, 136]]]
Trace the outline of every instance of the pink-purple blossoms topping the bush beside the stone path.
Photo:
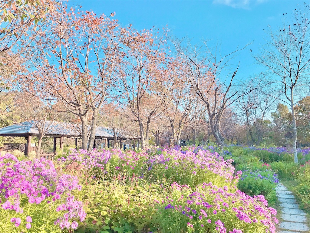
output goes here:
[[[240, 190], [230, 193], [227, 186], [220, 188], [212, 183], [204, 183], [192, 190], [175, 182], [171, 188], [175, 191], [166, 198], [164, 210], [172, 211], [170, 214], [181, 213], [187, 218], [184, 221], [194, 230], [197, 227], [206, 227], [207, 230], [215, 226], [220, 233], [242, 233], [236, 226], [252, 229], [251, 225], [255, 225], [266, 229], [267, 233], [276, 232], [277, 211], [267, 207], [268, 203], [262, 195], [251, 197]], [[186, 193], [189, 194], [185, 196]], [[235, 217], [232, 219], [232, 216]]]

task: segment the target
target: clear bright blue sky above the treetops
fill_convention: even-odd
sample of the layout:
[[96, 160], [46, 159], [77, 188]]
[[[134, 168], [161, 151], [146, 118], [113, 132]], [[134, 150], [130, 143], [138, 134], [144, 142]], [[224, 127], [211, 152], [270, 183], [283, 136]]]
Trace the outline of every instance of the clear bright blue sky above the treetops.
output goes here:
[[240, 61], [238, 76], [244, 79], [264, 69], [252, 55], [259, 54], [259, 48], [267, 43], [268, 25], [277, 30], [283, 25], [283, 13], [289, 21], [297, 4], [303, 6], [304, 2], [310, 0], [69, 0], [68, 4], [81, 5], [82, 10], [91, 9], [97, 15], [115, 11], [122, 26], [132, 24], [137, 30], [168, 25], [175, 37], [188, 37], [192, 43], [210, 40], [210, 47], [220, 44], [222, 54], [253, 43], [236, 59]]

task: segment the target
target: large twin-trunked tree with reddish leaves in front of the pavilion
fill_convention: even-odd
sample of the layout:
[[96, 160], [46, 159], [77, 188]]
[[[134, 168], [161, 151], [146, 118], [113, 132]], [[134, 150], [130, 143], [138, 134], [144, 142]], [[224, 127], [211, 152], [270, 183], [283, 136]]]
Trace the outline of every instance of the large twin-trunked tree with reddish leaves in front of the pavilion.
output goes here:
[[[111, 14], [114, 16], [114, 14]], [[99, 109], [108, 98], [119, 63], [117, 20], [64, 5], [36, 41], [28, 87], [48, 93], [79, 117], [82, 148], [92, 149]]]

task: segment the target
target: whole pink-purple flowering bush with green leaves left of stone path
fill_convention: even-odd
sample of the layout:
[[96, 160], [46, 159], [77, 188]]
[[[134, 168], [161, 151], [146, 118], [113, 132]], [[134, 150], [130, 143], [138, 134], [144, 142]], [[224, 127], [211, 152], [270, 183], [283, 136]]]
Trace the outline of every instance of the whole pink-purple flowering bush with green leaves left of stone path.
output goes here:
[[[202, 184], [195, 189], [187, 185], [171, 185], [165, 205], [158, 203], [154, 216], [156, 228], [152, 231], [168, 232], [275, 232], [277, 211], [267, 208], [263, 196], [250, 197], [237, 190], [227, 192]], [[267, 230], [268, 229], [268, 230]]]

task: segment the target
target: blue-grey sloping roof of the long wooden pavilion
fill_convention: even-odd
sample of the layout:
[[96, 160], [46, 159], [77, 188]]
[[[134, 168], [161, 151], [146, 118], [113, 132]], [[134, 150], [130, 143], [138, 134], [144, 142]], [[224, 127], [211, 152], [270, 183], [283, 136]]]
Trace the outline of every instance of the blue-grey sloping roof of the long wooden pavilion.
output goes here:
[[[46, 128], [49, 128], [45, 137], [67, 137], [67, 138], [81, 138], [79, 132], [79, 126], [73, 123], [65, 122], [46, 122]], [[95, 139], [113, 139], [114, 135], [107, 127], [98, 126], [96, 128]], [[0, 136], [16, 136], [16, 137], [27, 137], [28, 135], [38, 136], [39, 131], [35, 126], [34, 121], [25, 121], [19, 124], [6, 126], [0, 129]], [[126, 135], [122, 139], [133, 139], [132, 136]]]

